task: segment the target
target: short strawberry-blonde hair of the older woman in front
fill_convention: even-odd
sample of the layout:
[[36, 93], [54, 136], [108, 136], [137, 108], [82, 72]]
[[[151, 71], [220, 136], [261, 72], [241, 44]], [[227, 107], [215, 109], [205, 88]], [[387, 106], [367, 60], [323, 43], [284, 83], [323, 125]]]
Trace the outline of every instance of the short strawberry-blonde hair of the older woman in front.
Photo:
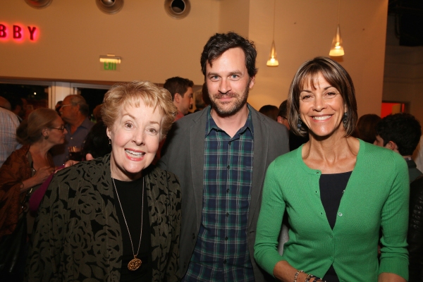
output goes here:
[[113, 85], [103, 99], [102, 119], [104, 124], [111, 130], [122, 106], [138, 107], [141, 101], [145, 106], [159, 109], [163, 116], [160, 130], [160, 140], [162, 140], [171, 129], [178, 109], [173, 104], [171, 93], [168, 90], [149, 81], [135, 80]]

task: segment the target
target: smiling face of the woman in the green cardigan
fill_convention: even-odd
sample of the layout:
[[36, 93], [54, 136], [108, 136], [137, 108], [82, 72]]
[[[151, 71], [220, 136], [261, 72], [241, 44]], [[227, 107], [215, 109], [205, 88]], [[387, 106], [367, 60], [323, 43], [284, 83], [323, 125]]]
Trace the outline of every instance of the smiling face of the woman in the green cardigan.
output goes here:
[[320, 137], [345, 135], [343, 114], [347, 111], [341, 93], [319, 73], [300, 92], [300, 118], [309, 133]]

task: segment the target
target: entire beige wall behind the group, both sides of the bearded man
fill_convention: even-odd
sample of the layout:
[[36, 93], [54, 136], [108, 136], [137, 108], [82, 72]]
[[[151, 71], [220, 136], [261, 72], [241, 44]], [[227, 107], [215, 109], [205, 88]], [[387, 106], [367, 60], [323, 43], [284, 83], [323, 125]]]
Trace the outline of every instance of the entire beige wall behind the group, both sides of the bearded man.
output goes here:
[[[359, 114], [380, 113], [388, 0], [341, 1], [341, 64], [355, 82]], [[163, 83], [179, 75], [202, 85], [200, 54], [215, 32], [233, 30], [256, 43], [259, 73], [249, 102], [278, 106], [306, 59], [329, 56], [337, 0], [276, 0], [279, 66], [266, 67], [273, 30], [273, 0], [192, 0], [187, 18], [175, 20], [161, 0], [126, 0], [106, 15], [95, 1], [52, 1], [37, 10], [25, 1], [1, 5], [0, 23], [37, 25], [36, 43], [0, 41], [0, 78], [54, 81]], [[99, 56], [122, 57], [120, 71], [101, 71]]]

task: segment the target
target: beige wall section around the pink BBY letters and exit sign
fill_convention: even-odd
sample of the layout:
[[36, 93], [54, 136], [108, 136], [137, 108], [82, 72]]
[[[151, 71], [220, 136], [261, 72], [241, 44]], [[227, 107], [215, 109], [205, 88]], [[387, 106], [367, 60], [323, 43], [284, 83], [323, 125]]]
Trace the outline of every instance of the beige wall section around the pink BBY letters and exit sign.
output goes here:
[[[52, 1], [37, 10], [9, 0], [0, 20], [37, 25], [41, 33], [33, 44], [0, 42], [0, 76], [163, 83], [180, 75], [201, 84], [200, 53], [217, 30], [218, 12], [217, 0], [195, 1], [183, 20], [169, 17], [159, 0], [127, 0], [115, 15], [95, 1]], [[99, 56], [106, 54], [122, 57], [120, 71], [101, 71]]]

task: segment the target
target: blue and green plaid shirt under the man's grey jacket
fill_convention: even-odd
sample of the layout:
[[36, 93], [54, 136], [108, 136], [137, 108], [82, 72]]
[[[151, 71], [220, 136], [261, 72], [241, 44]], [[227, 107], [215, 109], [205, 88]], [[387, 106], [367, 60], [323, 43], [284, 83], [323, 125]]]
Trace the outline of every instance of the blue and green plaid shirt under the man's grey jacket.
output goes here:
[[183, 281], [255, 281], [247, 247], [253, 135], [251, 113], [231, 138], [209, 110], [202, 220]]

